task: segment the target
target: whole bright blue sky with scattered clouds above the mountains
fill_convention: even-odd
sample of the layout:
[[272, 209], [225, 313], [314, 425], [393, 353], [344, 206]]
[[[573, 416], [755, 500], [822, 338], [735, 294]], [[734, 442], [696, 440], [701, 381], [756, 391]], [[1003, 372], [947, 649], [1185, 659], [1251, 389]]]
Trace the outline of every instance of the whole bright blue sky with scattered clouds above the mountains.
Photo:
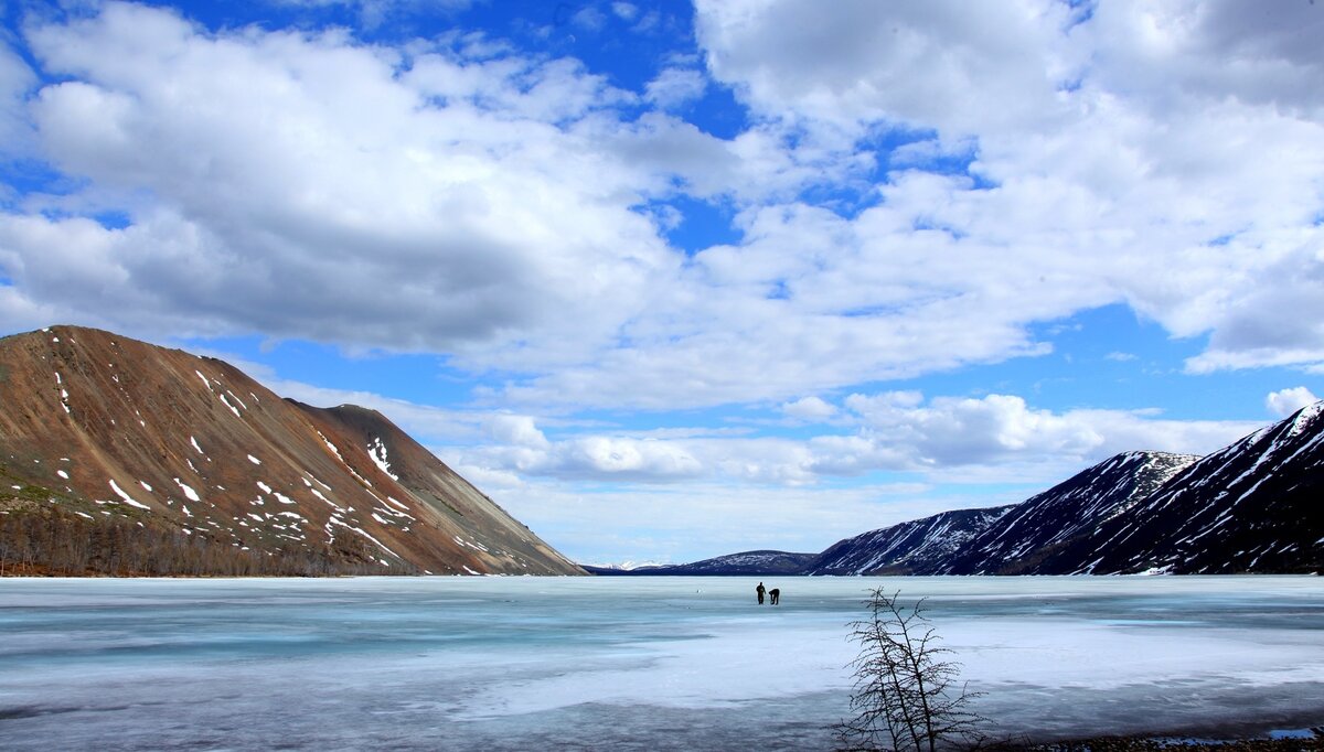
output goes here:
[[1324, 3], [0, 0], [0, 335], [381, 410], [581, 563], [1324, 396]]

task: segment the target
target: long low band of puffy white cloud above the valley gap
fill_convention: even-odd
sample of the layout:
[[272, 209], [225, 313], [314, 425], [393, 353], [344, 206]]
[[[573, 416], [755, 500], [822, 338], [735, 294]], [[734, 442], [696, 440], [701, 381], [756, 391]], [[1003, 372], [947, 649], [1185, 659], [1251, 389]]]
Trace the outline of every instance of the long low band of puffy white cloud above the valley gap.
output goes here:
[[1259, 428], [1164, 420], [1149, 410], [1053, 412], [1012, 395], [925, 400], [918, 392], [855, 393], [841, 406], [806, 397], [781, 409], [802, 421], [830, 418], [838, 428], [806, 438], [703, 430], [629, 436], [589, 428], [548, 440], [534, 418], [502, 414], [489, 424], [496, 442], [455, 451], [467, 466], [563, 479], [798, 486], [908, 473], [933, 482], [1055, 483], [1121, 451], [1206, 454]]

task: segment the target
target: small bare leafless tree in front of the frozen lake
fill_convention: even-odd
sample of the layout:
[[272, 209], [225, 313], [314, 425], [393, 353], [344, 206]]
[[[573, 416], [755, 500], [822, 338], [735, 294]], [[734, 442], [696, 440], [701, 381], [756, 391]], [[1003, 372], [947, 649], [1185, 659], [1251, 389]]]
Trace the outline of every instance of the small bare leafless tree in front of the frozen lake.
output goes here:
[[907, 608], [899, 596], [874, 588], [865, 601], [870, 618], [849, 625], [859, 643], [859, 657], [850, 663], [855, 716], [837, 726], [838, 748], [935, 752], [977, 745], [986, 719], [969, 704], [980, 694], [955, 686], [960, 665], [937, 646], [924, 601]]

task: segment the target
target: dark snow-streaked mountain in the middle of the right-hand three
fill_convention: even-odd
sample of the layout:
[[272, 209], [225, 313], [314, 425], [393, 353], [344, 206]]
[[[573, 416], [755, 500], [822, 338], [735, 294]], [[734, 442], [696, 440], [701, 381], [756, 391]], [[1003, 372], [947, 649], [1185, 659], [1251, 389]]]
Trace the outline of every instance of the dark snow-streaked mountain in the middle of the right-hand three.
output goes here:
[[1128, 451], [1021, 502], [925, 575], [1029, 575], [1064, 541], [1149, 496], [1200, 457]]

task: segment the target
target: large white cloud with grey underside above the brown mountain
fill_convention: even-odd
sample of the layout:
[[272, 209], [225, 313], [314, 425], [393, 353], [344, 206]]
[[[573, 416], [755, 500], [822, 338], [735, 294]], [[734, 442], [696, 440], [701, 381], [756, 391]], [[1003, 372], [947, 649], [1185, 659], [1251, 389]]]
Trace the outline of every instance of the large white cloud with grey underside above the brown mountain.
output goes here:
[[577, 62], [406, 61], [123, 4], [29, 36], [68, 78], [32, 106], [42, 147], [93, 187], [52, 204], [130, 216], [0, 217], [0, 265], [61, 320], [453, 352], [560, 330], [583, 357], [674, 263], [629, 208], [638, 176], [583, 169], [573, 124], [629, 95]]

